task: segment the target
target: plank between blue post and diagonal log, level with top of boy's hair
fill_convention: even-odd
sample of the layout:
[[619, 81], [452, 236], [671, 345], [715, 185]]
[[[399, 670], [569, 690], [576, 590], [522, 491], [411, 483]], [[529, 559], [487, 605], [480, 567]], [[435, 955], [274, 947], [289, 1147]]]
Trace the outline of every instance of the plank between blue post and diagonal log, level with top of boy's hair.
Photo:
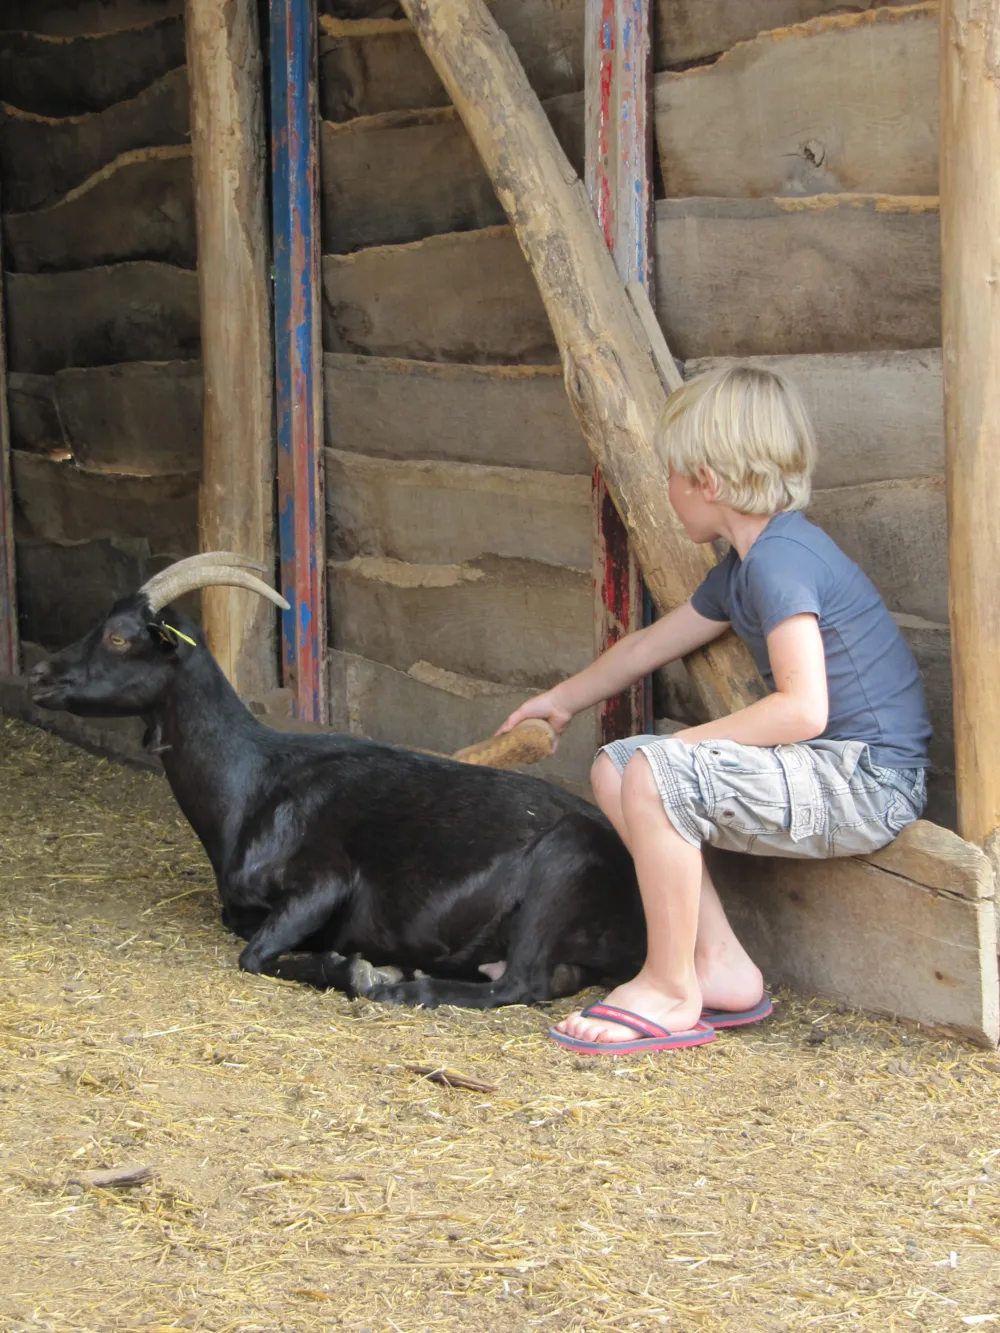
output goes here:
[[324, 356], [327, 444], [379, 459], [440, 459], [591, 475], [555, 365], [455, 365]]

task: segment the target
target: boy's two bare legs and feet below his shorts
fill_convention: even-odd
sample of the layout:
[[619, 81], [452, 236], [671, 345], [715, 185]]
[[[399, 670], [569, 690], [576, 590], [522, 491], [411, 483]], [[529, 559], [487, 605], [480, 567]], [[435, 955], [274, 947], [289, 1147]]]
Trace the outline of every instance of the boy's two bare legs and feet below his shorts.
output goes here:
[[[608, 756], [600, 754], [592, 781], [597, 804], [636, 862], [649, 940], [643, 970], [612, 990], [607, 1002], [673, 1032], [692, 1028], [703, 1004], [729, 1010], [756, 1004], [764, 989], [760, 970], [725, 917], [701, 852], [667, 817], [645, 757], [640, 762], [636, 756], [623, 780]], [[588, 1041], [635, 1036], [579, 1014], [557, 1026]]]

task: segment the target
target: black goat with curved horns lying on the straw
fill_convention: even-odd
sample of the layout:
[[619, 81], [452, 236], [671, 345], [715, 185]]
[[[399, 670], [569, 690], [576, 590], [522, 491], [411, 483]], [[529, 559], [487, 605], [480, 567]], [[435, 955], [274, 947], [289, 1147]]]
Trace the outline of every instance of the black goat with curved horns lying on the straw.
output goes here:
[[[220, 583], [285, 605], [248, 568], [227, 553], [180, 561], [32, 672], [45, 708], [145, 720], [223, 921], [249, 941], [240, 966], [480, 1009], [632, 976], [645, 953], [632, 858], [585, 801], [351, 736], [279, 733], [244, 708], [199, 628], [164, 608]], [[359, 956], [411, 980], [367, 985]]]

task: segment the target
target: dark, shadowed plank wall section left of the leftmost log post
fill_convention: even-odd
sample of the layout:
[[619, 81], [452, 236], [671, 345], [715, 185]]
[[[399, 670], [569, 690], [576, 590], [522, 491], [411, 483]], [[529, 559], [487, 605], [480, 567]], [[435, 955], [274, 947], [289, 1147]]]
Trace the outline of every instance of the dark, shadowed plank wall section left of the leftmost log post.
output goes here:
[[45, 648], [197, 549], [181, 11], [13, 0], [0, 16], [17, 595], [23, 637]]

